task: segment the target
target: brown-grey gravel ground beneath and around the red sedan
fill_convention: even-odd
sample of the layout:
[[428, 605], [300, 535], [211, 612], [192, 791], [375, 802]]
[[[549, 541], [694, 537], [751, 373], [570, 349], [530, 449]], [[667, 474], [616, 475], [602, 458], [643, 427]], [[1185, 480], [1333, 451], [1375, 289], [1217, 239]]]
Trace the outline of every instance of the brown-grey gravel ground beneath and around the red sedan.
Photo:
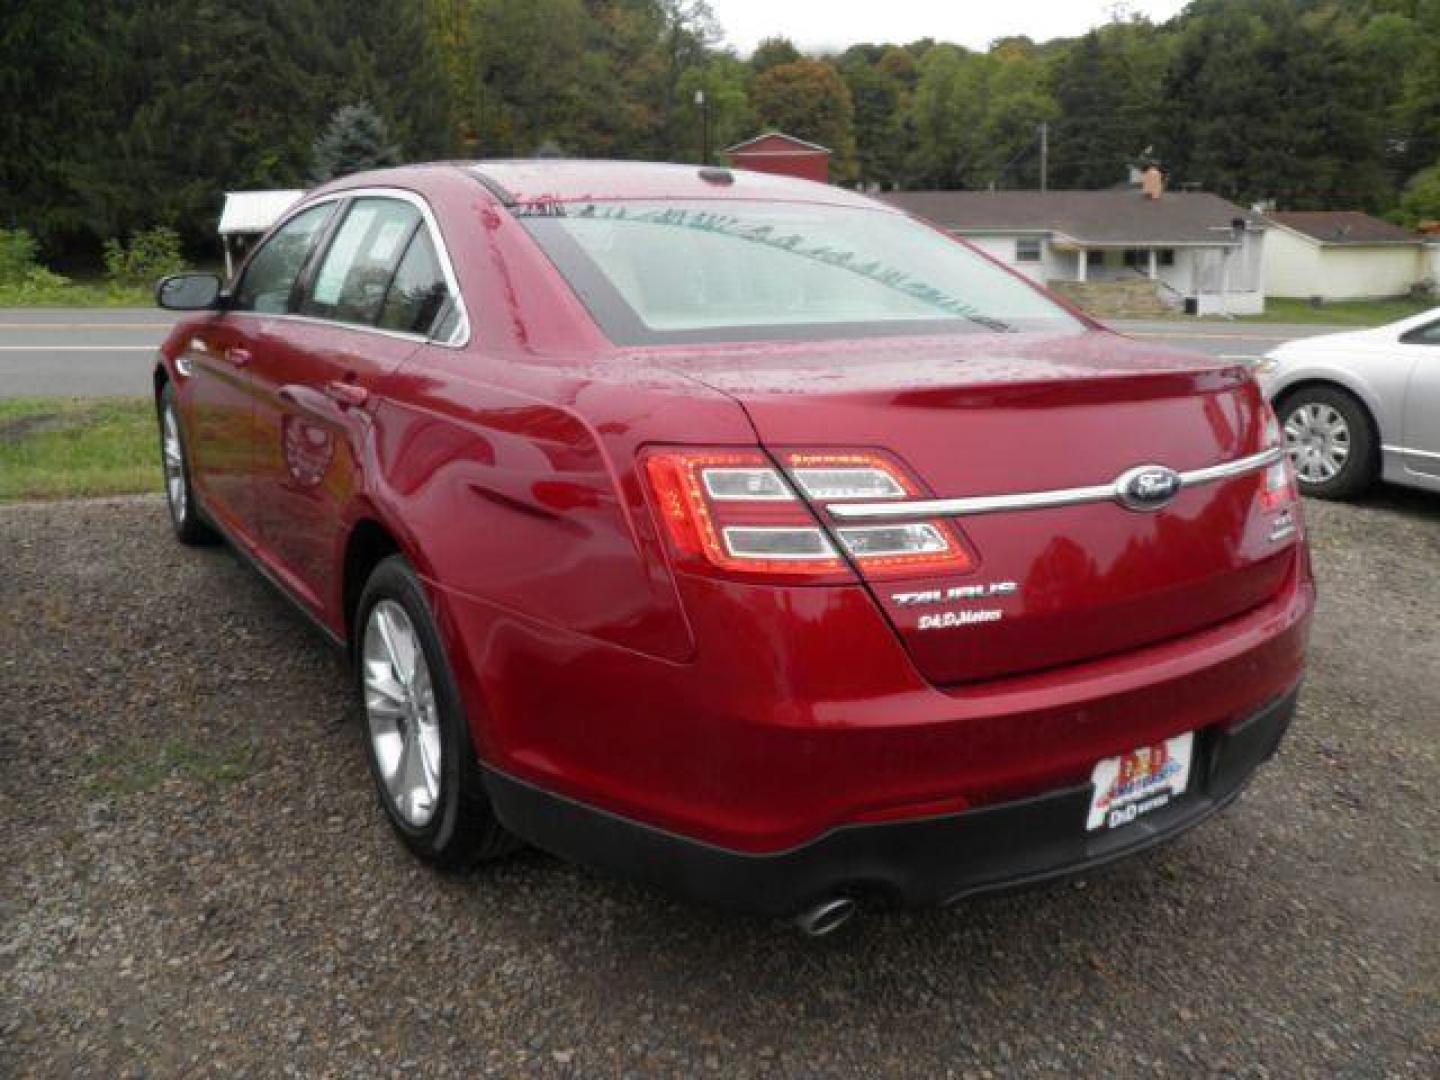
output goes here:
[[837, 937], [413, 863], [341, 661], [157, 500], [0, 508], [0, 1073], [1440, 1074], [1440, 500], [1312, 505], [1302, 716], [1109, 871]]

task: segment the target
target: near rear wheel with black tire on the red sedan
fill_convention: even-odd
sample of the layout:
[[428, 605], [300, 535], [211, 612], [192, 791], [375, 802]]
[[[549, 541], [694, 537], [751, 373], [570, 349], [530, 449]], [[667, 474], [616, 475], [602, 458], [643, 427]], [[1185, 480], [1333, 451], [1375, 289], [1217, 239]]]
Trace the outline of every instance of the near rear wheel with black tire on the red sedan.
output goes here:
[[354, 626], [370, 775], [406, 847], [445, 870], [517, 848], [485, 796], [459, 688], [403, 557], [376, 566]]

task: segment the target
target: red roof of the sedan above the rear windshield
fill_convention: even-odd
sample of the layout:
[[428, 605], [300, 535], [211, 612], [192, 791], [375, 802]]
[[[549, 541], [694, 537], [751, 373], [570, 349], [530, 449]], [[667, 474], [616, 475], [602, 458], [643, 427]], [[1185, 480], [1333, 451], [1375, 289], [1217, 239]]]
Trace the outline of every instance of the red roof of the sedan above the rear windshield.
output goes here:
[[511, 204], [590, 199], [759, 199], [893, 213], [881, 203], [832, 184], [720, 166], [536, 158], [474, 161], [464, 167], [501, 202]]

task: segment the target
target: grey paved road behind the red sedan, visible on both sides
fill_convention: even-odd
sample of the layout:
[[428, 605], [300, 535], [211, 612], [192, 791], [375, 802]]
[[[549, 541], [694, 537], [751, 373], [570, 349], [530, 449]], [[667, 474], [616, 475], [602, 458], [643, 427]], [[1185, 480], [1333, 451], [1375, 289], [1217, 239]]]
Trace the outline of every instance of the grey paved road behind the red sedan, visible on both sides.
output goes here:
[[[154, 308], [0, 310], [0, 397], [144, 395], [156, 346], [176, 317]], [[1293, 337], [1339, 327], [1125, 323], [1116, 330], [1211, 356], [1254, 359]]]

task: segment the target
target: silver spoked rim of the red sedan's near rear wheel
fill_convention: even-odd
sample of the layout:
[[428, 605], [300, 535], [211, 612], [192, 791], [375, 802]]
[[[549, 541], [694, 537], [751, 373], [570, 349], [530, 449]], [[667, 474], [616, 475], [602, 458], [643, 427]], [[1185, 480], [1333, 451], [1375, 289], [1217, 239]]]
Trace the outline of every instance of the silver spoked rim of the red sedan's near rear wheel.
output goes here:
[[380, 780], [405, 824], [423, 828], [441, 793], [441, 723], [431, 668], [409, 613], [380, 600], [366, 621], [364, 710]]

